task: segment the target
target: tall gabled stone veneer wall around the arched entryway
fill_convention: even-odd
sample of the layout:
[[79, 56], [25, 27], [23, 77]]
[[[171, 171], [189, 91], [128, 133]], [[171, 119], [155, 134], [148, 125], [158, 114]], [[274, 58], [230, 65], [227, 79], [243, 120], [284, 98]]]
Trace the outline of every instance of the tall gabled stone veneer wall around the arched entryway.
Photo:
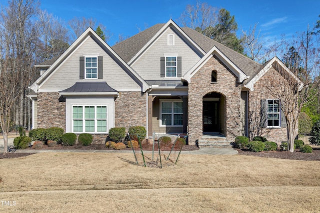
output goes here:
[[[217, 71], [217, 83], [211, 83], [211, 71]], [[217, 57], [211, 57], [191, 78], [188, 85], [188, 136], [189, 144], [202, 137], [202, 98], [209, 92], [225, 96], [223, 132], [227, 140], [241, 133], [240, 86], [237, 77]]]

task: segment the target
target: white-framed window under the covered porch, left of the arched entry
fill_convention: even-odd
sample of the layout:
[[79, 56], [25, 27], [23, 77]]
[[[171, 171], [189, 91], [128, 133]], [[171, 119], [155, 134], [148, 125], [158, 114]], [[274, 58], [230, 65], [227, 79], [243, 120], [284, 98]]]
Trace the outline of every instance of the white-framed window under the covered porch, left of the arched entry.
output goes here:
[[160, 126], [182, 126], [182, 102], [162, 101], [160, 103]]

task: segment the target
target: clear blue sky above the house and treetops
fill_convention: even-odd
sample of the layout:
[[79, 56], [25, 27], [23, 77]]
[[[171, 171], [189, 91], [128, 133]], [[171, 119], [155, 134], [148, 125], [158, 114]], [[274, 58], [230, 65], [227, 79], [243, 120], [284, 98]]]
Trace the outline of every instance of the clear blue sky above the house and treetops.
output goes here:
[[[6, 4], [7, 0], [0, 0]], [[319, 0], [203, 0], [208, 4], [225, 8], [235, 16], [238, 28], [247, 30], [250, 25], [258, 23], [258, 29], [265, 39], [274, 41], [281, 34], [291, 37], [296, 31], [306, 30], [309, 24], [320, 19]], [[257, 3], [259, 2], [259, 3]], [[138, 28], [144, 29], [156, 23], [165, 23], [170, 18], [177, 19], [187, 4], [196, 0], [41, 0], [41, 9], [64, 19], [74, 16], [93, 17], [113, 34], [108, 42], [113, 45], [118, 34], [132, 36]], [[240, 33], [240, 30], [239, 32]]]

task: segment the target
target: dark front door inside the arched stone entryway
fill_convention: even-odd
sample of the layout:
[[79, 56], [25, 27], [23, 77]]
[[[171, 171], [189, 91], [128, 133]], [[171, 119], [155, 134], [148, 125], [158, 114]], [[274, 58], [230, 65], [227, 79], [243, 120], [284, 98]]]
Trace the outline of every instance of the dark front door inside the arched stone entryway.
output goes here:
[[203, 101], [203, 132], [219, 132], [219, 102]]

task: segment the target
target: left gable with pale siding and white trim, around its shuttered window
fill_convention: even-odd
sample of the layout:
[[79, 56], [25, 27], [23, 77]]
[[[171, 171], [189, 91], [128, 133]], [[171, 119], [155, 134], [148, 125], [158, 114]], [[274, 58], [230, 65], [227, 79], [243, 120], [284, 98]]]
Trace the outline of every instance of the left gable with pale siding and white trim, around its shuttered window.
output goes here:
[[[98, 79], [82, 79], [80, 58], [96, 57], [98, 69], [103, 67]], [[102, 60], [100, 60], [102, 59]], [[83, 62], [84, 63], [84, 62]], [[88, 28], [80, 37], [30, 86], [37, 91], [61, 91], [75, 82], [105, 81], [117, 91], [142, 91], [147, 83], [138, 76], [96, 33]]]

